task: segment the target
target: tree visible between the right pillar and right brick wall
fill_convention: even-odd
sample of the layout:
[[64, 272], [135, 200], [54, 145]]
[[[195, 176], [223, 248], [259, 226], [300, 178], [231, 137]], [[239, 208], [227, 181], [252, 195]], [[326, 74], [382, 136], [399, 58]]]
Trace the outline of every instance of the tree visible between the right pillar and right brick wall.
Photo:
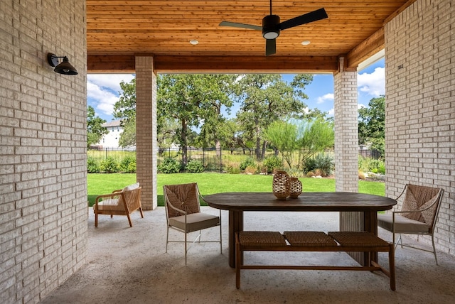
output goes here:
[[385, 97], [370, 100], [368, 107], [358, 109], [358, 143], [371, 144], [371, 148], [385, 151]]

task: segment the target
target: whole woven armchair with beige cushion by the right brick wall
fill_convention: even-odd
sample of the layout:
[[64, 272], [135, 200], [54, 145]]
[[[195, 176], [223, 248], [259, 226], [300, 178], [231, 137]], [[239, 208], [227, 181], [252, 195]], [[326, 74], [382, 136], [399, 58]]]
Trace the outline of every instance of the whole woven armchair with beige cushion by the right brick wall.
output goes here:
[[[434, 228], [444, 190], [441, 188], [407, 184], [400, 196], [397, 197], [397, 200], [404, 193], [406, 194], [401, 210], [393, 211], [391, 214], [378, 215], [378, 226], [392, 232], [395, 247], [400, 243], [402, 247], [407, 246], [433, 252], [436, 264], [438, 264], [436, 249], [434, 248]], [[399, 234], [396, 241], [395, 234]], [[401, 234], [431, 236], [433, 251], [403, 244]], [[418, 236], [417, 241], [419, 241]]]

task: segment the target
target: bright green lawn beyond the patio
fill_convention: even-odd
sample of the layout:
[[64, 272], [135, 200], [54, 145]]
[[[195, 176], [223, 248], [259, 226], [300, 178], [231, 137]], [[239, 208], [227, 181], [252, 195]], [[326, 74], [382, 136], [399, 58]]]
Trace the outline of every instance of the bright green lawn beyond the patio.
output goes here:
[[[330, 178], [300, 178], [304, 192], [333, 192], [335, 180]], [[176, 173], [159, 174], [157, 185], [158, 205], [164, 205], [163, 185], [198, 183], [202, 195], [218, 192], [266, 192], [272, 191], [272, 175], [246, 175], [223, 173]], [[87, 175], [87, 192], [90, 206], [97, 195], [110, 193], [136, 183], [134, 173], [90, 173]], [[385, 184], [359, 180], [360, 193], [385, 195]]]

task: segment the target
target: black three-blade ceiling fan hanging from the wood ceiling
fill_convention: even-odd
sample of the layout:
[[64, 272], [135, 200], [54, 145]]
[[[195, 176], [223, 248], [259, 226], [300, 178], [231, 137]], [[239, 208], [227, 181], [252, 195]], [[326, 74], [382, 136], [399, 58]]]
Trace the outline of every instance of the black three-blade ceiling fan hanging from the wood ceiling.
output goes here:
[[252, 30], [262, 31], [262, 37], [265, 38], [265, 55], [269, 56], [277, 53], [277, 42], [275, 39], [279, 36], [280, 31], [324, 18], [328, 18], [326, 10], [316, 9], [316, 11], [311, 11], [310, 13], [305, 13], [304, 15], [297, 16], [280, 23], [279, 16], [272, 15], [272, 0], [270, 0], [270, 15], [262, 18], [262, 26], [252, 26], [250, 24], [230, 21], [221, 21], [220, 26], [250, 28]]

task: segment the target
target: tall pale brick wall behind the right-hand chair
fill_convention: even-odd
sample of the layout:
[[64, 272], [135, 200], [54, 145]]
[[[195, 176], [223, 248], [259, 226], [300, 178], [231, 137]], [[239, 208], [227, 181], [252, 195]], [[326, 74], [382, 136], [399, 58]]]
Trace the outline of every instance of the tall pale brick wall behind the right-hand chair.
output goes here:
[[[455, 254], [455, 8], [418, 0], [385, 26], [386, 194], [444, 188], [437, 249]], [[427, 240], [428, 241], [428, 240]]]

